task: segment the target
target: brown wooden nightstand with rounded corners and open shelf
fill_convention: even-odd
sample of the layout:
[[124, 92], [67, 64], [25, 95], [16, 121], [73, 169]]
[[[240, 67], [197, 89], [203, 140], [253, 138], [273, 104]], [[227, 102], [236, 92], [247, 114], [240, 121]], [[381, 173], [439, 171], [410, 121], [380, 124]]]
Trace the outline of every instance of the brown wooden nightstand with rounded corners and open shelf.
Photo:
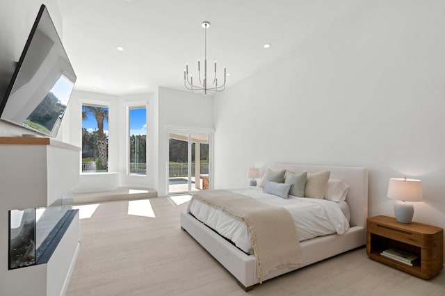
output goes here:
[[[420, 263], [410, 266], [380, 255], [389, 248], [420, 256]], [[375, 261], [422, 279], [431, 279], [444, 267], [444, 229], [416, 222], [403, 224], [394, 217], [370, 217], [367, 219], [366, 253]]]

